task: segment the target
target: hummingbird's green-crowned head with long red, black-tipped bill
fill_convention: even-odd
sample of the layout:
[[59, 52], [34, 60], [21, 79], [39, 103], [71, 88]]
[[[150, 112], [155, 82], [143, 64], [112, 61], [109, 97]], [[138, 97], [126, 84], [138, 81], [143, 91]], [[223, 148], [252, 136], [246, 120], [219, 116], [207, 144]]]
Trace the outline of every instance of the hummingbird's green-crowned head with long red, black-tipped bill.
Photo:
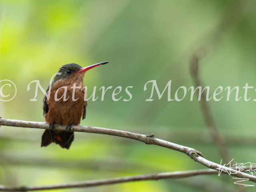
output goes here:
[[107, 61], [101, 62], [84, 68], [75, 63], [66, 64], [59, 69], [58, 73], [60, 73], [60, 75], [56, 75], [53, 82], [57, 82], [59, 80], [63, 82], [70, 81], [71, 83], [83, 82], [86, 71], [107, 63]]

